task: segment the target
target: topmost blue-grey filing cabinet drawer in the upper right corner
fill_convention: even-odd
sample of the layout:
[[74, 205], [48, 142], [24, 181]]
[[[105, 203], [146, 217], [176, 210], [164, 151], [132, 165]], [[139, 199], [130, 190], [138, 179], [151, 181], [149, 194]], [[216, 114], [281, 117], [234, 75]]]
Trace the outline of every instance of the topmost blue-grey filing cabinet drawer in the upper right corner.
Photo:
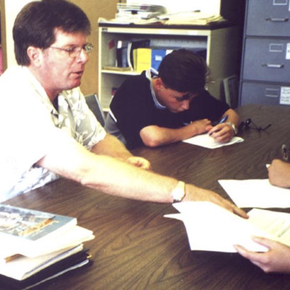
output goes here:
[[249, 0], [246, 34], [289, 36], [289, 5], [288, 0]]

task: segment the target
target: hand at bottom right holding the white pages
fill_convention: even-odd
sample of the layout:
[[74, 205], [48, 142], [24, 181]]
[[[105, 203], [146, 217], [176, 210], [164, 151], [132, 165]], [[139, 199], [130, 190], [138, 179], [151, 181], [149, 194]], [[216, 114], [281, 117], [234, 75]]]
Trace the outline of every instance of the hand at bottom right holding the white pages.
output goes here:
[[266, 246], [269, 251], [256, 253], [248, 251], [240, 245], [235, 245], [238, 253], [244, 258], [249, 259], [266, 273], [290, 273], [290, 247], [267, 238], [253, 237], [253, 240], [258, 244]]

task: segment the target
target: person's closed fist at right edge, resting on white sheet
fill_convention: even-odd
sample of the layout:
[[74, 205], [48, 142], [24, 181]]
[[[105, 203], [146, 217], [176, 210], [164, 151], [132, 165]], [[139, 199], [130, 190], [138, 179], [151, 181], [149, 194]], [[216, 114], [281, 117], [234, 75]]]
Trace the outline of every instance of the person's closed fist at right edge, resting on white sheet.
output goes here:
[[277, 187], [290, 187], [290, 163], [274, 159], [268, 167], [269, 181]]

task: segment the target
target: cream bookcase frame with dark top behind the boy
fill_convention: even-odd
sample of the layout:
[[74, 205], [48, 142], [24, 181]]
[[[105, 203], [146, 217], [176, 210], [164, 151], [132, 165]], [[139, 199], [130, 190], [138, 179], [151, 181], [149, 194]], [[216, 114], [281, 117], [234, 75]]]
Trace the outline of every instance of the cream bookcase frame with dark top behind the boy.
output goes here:
[[[191, 28], [191, 29], [190, 29]], [[239, 28], [227, 24], [221, 26], [142, 26], [99, 24], [98, 97], [104, 111], [108, 111], [112, 89], [118, 88], [126, 77], [138, 75], [136, 71], [103, 69], [116, 65], [117, 40], [150, 39], [150, 46], [161, 48], [202, 48], [206, 51], [206, 63], [211, 73], [207, 89], [218, 99], [222, 95], [224, 78], [238, 74]]]

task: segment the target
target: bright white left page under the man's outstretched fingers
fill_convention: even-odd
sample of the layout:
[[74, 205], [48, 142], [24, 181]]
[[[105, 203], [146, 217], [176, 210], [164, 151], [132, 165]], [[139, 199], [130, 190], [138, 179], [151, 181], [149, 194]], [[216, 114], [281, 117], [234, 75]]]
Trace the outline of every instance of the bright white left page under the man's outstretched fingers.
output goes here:
[[264, 231], [214, 203], [190, 201], [173, 205], [181, 213], [164, 217], [183, 221], [191, 250], [234, 253], [235, 244], [240, 244], [251, 251], [267, 250], [251, 238], [253, 235], [267, 236]]

